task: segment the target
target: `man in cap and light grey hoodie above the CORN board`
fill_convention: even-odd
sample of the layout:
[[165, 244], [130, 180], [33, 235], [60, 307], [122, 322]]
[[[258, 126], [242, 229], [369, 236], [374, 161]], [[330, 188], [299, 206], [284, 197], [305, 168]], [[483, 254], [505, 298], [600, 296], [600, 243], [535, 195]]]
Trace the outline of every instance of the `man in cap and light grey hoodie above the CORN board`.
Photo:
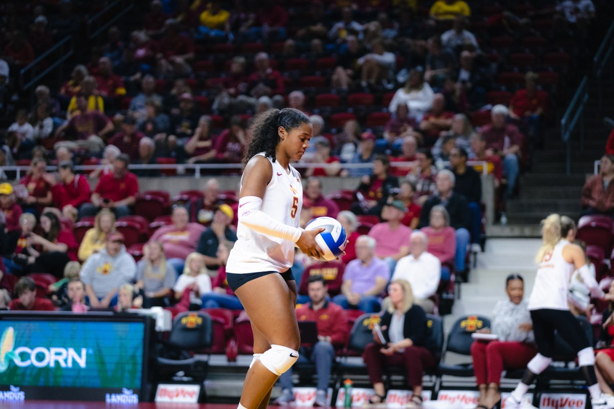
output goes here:
[[90, 307], [113, 307], [119, 288], [131, 283], [135, 275], [136, 263], [123, 245], [123, 234], [107, 234], [105, 248], [92, 254], [81, 269]]

